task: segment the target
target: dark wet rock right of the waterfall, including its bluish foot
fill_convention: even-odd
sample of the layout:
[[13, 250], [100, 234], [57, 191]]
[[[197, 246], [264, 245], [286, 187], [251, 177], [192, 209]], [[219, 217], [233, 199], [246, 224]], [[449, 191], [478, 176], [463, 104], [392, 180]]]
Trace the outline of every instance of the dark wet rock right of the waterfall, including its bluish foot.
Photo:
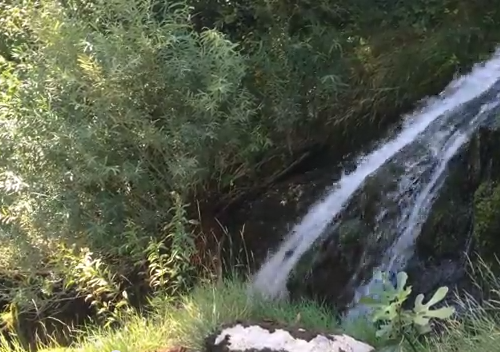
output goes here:
[[414, 292], [440, 286], [473, 291], [466, 255], [494, 264], [491, 259], [500, 253], [499, 181], [500, 130], [482, 128], [451, 160], [446, 183], [417, 239], [407, 270]]

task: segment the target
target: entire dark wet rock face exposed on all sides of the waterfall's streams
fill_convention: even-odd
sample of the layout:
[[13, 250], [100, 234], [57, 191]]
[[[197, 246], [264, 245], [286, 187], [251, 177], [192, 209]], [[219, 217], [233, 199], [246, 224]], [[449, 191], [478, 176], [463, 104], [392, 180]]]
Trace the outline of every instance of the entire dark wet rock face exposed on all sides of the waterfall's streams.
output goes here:
[[[429, 179], [427, 166], [435, 160], [426, 153], [425, 145], [403, 151], [399, 161], [388, 163], [356, 192], [336, 219], [338, 226], [331, 226], [292, 273], [292, 299], [314, 298], [342, 312], [395, 240], [401, 209], [414, 203], [425, 184], [419, 179]], [[405, 179], [406, 159], [411, 159], [413, 169]], [[229, 226], [230, 233], [244, 230], [242, 240], [257, 264], [253, 270], [339, 178], [343, 166], [323, 165], [297, 174], [233, 214], [231, 222], [245, 226]], [[443, 285], [471, 289], [464, 280], [464, 252], [492, 258], [500, 253], [499, 231], [500, 130], [482, 128], [449, 162], [444, 185], [415, 240], [415, 254], [406, 269], [413, 292], [429, 294]]]

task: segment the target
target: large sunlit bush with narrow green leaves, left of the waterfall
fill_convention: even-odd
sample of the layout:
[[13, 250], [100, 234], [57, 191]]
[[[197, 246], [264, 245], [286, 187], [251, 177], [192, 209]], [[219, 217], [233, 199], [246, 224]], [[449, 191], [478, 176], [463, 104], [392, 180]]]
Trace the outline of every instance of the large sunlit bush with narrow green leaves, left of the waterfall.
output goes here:
[[2, 5], [18, 45], [0, 82], [2, 270], [76, 275], [86, 292], [145, 260], [151, 280], [178, 276], [186, 196], [265, 144], [223, 35], [194, 31], [182, 4], [162, 22], [147, 0], [89, 4]]

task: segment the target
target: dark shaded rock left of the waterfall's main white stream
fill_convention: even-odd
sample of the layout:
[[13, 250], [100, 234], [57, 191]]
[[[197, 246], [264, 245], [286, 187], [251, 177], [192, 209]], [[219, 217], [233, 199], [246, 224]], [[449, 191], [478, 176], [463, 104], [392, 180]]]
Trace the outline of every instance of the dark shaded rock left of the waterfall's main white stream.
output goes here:
[[[258, 270], [309, 207], [338, 181], [342, 169], [352, 164], [351, 158], [328, 164], [312, 160], [304, 166], [303, 173], [271, 186], [261, 196], [220, 219], [231, 237], [231, 241], [225, 243], [226, 254], [232, 252], [238, 257], [235, 264], [249, 262], [245, 263], [245, 274], [248, 267], [251, 272]], [[329, 154], [322, 154], [320, 159], [330, 160]], [[229, 268], [232, 270], [234, 267]]]

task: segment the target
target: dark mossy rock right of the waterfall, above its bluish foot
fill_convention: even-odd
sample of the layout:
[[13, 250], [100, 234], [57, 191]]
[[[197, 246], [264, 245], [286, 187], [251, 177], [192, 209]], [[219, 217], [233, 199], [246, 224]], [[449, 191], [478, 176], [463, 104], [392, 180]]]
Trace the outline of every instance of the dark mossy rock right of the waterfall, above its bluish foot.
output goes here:
[[[491, 182], [500, 181], [499, 145], [500, 131], [482, 128], [450, 161], [448, 177], [417, 240], [420, 258], [439, 262], [463, 257], [472, 232], [487, 246], [484, 241], [493, 236], [495, 206], [500, 205], [486, 191], [494, 188]], [[493, 198], [486, 199], [488, 194]], [[500, 252], [500, 247], [488, 248]], [[480, 246], [477, 249], [482, 255]]]

